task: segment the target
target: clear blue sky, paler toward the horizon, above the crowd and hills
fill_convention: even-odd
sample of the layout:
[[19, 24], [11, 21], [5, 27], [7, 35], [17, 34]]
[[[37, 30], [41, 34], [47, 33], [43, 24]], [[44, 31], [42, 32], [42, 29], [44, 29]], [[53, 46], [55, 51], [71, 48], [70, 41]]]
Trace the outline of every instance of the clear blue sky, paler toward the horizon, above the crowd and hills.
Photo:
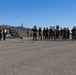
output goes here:
[[76, 26], [76, 0], [0, 0], [0, 25]]

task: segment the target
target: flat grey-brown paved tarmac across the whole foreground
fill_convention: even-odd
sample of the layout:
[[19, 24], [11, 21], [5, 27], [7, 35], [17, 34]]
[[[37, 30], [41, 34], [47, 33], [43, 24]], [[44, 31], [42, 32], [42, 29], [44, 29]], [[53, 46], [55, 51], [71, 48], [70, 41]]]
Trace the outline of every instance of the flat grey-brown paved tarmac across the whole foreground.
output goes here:
[[76, 42], [0, 41], [0, 75], [76, 75]]

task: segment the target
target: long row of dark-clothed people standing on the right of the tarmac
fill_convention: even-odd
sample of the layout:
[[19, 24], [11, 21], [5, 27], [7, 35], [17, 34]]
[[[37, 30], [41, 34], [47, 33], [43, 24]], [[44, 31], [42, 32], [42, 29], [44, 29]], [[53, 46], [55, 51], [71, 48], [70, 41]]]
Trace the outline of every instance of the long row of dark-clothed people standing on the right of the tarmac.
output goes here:
[[59, 26], [56, 27], [44, 27], [42, 30], [41, 27], [37, 29], [36, 26], [33, 27], [33, 41], [36, 40], [75, 40], [76, 39], [76, 27], [74, 26], [72, 30], [69, 30], [69, 28], [59, 28]]

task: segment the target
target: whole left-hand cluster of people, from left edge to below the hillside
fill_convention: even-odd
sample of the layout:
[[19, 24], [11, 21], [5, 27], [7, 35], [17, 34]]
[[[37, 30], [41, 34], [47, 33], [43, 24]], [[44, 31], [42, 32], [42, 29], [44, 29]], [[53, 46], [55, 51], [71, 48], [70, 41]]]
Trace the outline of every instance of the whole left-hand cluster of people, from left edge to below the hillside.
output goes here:
[[12, 38], [19, 38], [20, 34], [15, 29], [0, 27], [0, 40], [6, 40], [7, 36]]

